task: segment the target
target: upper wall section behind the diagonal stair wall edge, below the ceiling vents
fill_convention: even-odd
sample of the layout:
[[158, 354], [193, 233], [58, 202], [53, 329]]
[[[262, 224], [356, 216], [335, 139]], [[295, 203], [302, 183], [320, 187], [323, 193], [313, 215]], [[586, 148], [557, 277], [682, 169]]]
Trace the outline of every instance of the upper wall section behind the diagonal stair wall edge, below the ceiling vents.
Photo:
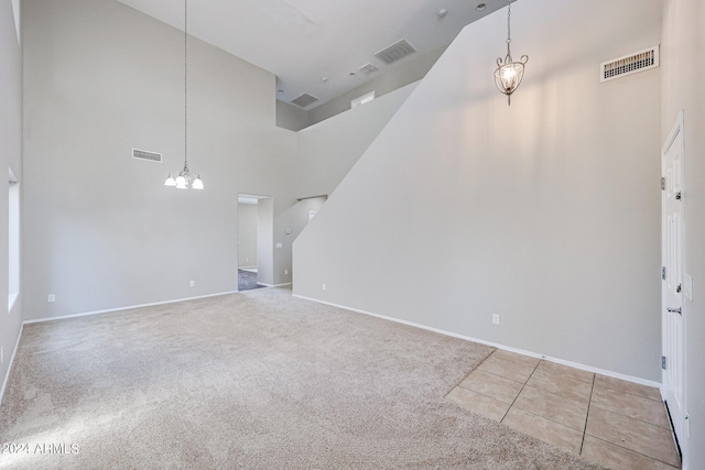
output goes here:
[[297, 133], [296, 197], [333, 193], [417, 84], [406, 85]]

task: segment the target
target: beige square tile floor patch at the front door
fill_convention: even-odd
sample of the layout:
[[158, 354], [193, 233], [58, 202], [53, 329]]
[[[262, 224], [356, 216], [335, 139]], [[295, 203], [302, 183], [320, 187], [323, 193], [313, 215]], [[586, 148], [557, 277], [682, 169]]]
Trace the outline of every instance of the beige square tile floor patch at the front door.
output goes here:
[[498, 349], [446, 398], [606, 468], [681, 468], [654, 387]]

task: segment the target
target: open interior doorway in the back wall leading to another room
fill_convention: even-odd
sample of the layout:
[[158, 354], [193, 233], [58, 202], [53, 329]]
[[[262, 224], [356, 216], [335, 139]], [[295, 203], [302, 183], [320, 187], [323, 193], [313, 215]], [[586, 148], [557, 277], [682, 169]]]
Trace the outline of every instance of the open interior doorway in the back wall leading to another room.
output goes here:
[[238, 195], [238, 291], [268, 287], [272, 271], [273, 201], [270, 196]]

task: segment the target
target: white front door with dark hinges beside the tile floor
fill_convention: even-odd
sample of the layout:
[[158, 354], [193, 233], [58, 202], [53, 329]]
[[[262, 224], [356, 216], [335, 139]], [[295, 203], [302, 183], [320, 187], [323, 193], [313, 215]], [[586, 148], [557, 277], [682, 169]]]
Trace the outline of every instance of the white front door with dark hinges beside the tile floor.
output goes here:
[[683, 318], [683, 118], [679, 119], [661, 159], [662, 171], [662, 238], [661, 307], [663, 335], [663, 398], [666, 402], [673, 431], [681, 446], [685, 440], [685, 364]]

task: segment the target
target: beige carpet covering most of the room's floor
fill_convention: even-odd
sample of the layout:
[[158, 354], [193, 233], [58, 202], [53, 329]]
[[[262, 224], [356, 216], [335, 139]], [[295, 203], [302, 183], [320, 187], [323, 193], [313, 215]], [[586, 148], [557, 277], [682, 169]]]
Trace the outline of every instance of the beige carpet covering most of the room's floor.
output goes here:
[[29, 325], [0, 469], [597, 468], [443, 398], [491, 352], [279, 288]]

